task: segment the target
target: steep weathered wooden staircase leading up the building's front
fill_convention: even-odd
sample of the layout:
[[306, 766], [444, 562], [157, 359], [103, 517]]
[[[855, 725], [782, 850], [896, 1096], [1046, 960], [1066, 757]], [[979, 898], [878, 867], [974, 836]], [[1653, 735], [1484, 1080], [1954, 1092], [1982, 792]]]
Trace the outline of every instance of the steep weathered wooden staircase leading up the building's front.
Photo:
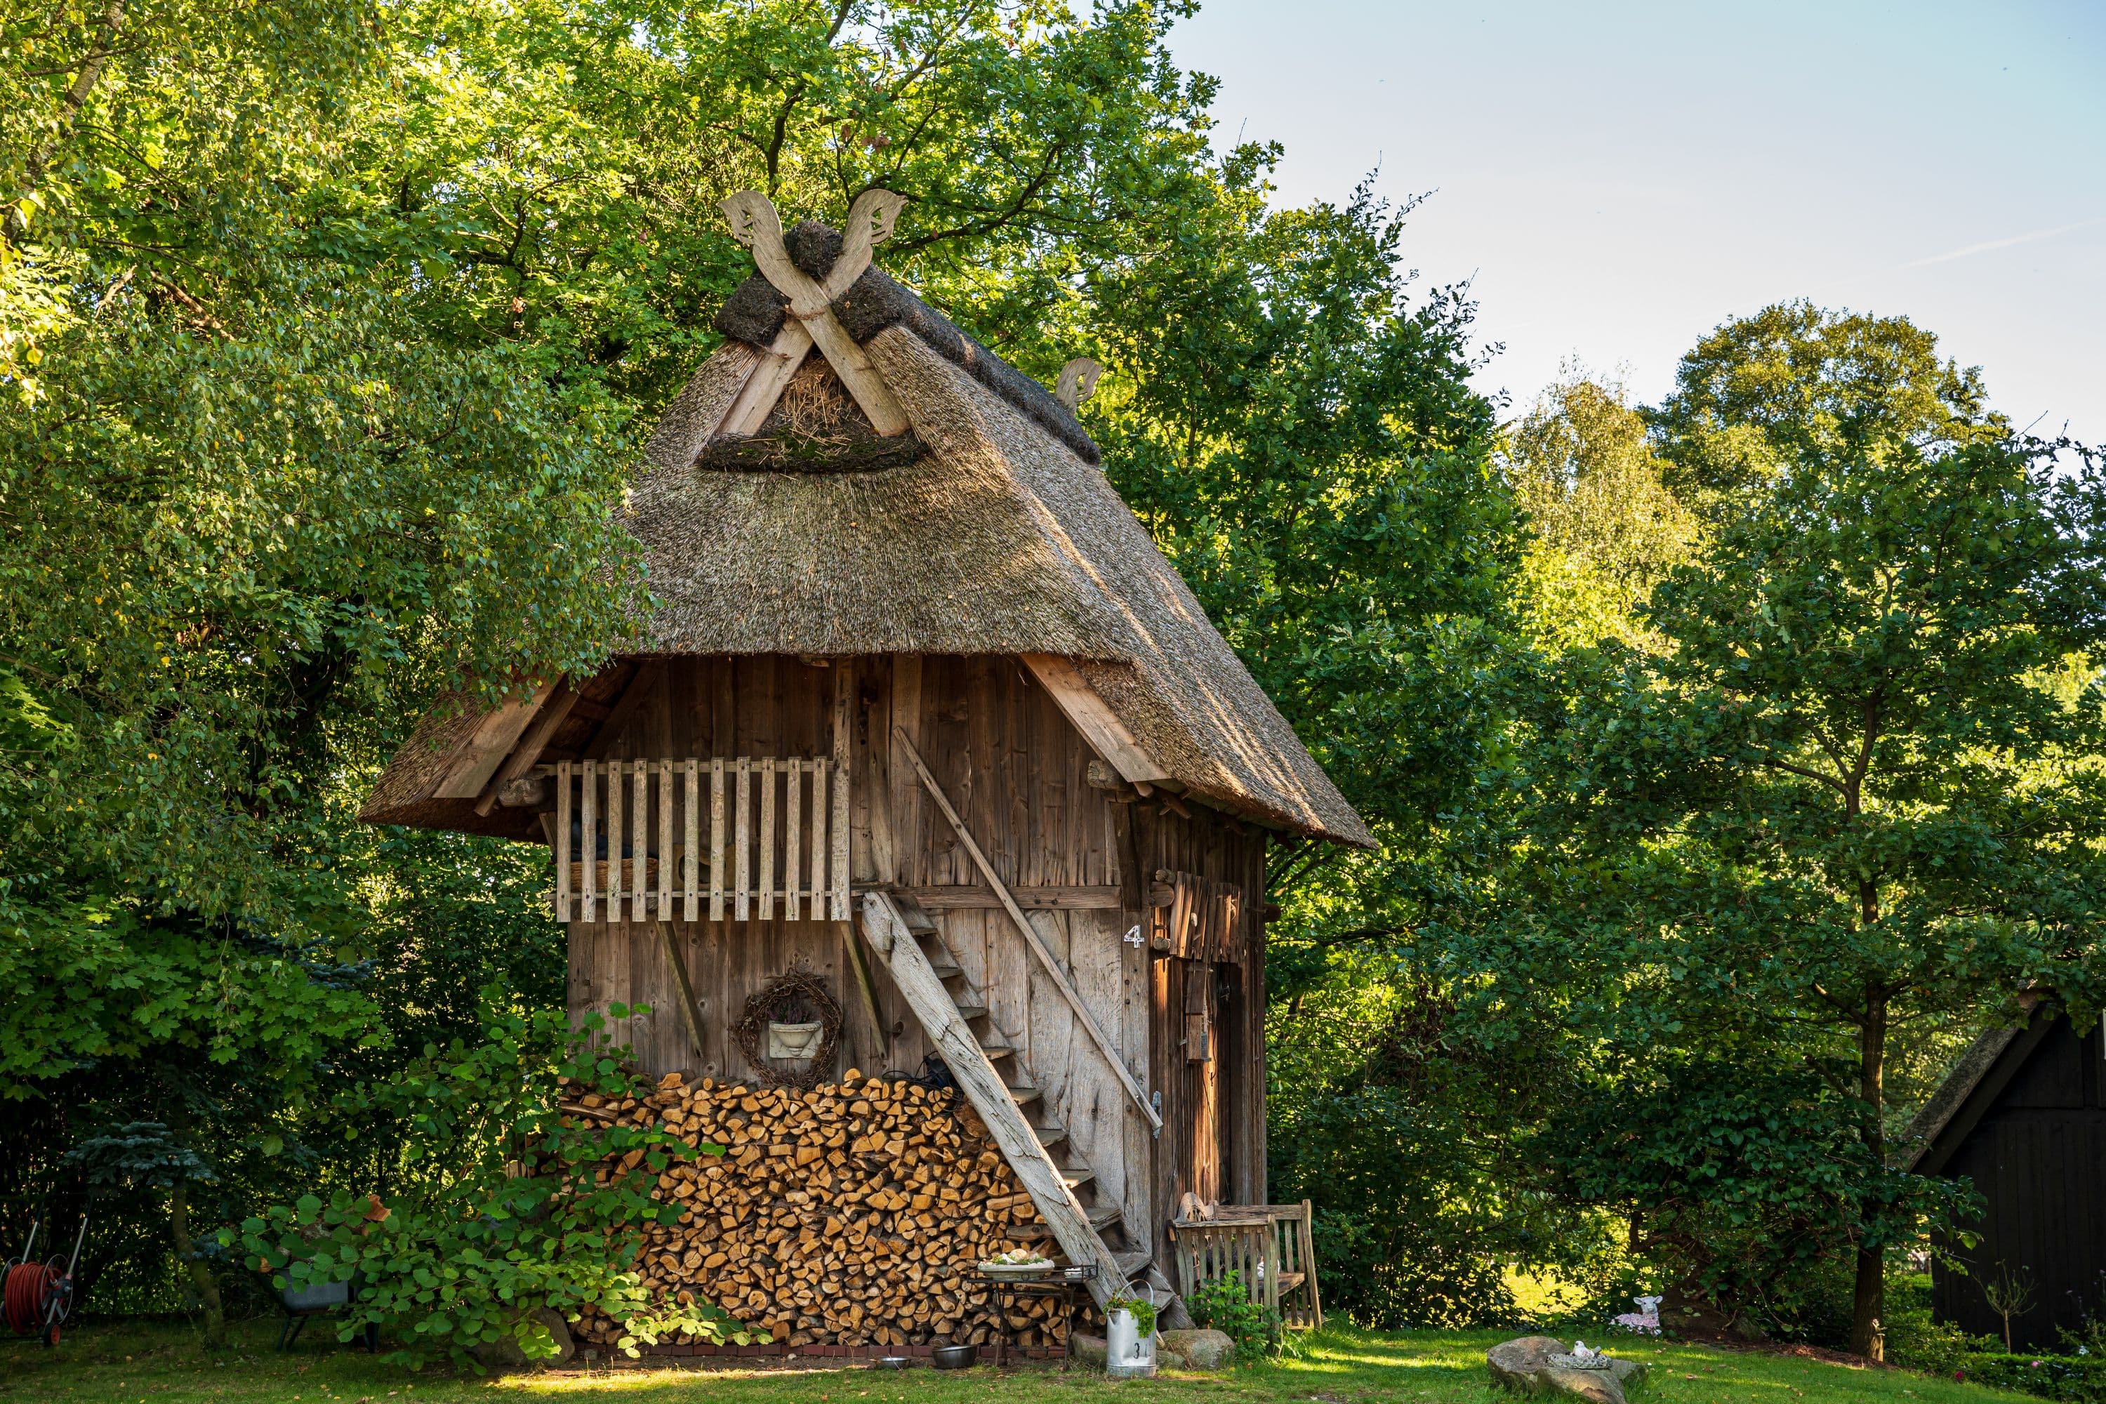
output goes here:
[[986, 1002], [943, 947], [935, 922], [895, 892], [863, 892], [859, 905], [872, 949], [988, 1124], [1053, 1240], [1070, 1263], [1097, 1265], [1089, 1290], [1101, 1307], [1146, 1271], [1148, 1250], [1129, 1246], [1118, 1204], [1099, 1204], [1097, 1172], [1068, 1143], [1068, 1130], [1049, 1118], [1030, 1069], [988, 1023]]

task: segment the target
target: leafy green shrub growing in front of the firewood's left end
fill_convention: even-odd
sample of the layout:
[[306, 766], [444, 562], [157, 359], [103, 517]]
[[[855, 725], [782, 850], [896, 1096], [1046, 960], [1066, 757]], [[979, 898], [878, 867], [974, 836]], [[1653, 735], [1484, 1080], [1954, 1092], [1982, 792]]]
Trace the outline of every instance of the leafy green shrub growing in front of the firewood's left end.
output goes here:
[[[339, 1189], [326, 1204], [301, 1196], [270, 1208], [244, 1221], [242, 1250], [276, 1269], [278, 1286], [356, 1284], [339, 1337], [379, 1326], [402, 1343], [404, 1364], [472, 1364], [478, 1345], [508, 1337], [529, 1358], [548, 1356], [554, 1343], [531, 1318], [539, 1307], [571, 1320], [604, 1311], [623, 1324], [630, 1356], [672, 1332], [743, 1343], [714, 1305], [653, 1301], [634, 1271], [638, 1231], [682, 1212], [653, 1200], [657, 1177], [695, 1151], [663, 1130], [577, 1124], [558, 1109], [564, 1088], [649, 1090], [594, 1050], [600, 1027], [573, 1034], [558, 1010], [501, 1012], [474, 1046], [428, 1046], [385, 1084], [356, 1088], [345, 1111], [377, 1124], [415, 1175], [385, 1198]], [[642, 1156], [615, 1168], [628, 1151]]]

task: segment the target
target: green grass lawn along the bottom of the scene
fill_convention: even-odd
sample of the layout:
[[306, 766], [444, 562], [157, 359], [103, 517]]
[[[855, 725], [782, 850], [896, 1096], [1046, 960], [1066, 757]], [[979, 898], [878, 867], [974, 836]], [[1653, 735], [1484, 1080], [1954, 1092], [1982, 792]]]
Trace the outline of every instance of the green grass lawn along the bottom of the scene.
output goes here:
[[[0, 1404], [533, 1404], [577, 1400], [600, 1404], [1390, 1404], [1394, 1400], [1462, 1400], [1485, 1404], [1485, 1347], [1504, 1332], [1358, 1332], [1325, 1330], [1304, 1341], [1299, 1358], [1228, 1375], [1171, 1375], [1154, 1381], [1106, 1381], [1085, 1370], [1026, 1366], [1015, 1370], [901, 1375], [868, 1366], [828, 1370], [703, 1370], [621, 1364], [613, 1370], [533, 1370], [508, 1377], [461, 1377], [451, 1370], [406, 1370], [337, 1345], [310, 1326], [293, 1353], [272, 1351], [276, 1322], [238, 1326], [234, 1345], [202, 1351], [179, 1326], [88, 1326], [67, 1332], [46, 1351], [36, 1343], [0, 1343]], [[1904, 1370], [1847, 1366], [1716, 1351], [1693, 1345], [1620, 1341], [1622, 1353], [1647, 1360], [1651, 1404], [1986, 1404], [2026, 1396], [1956, 1385]]]

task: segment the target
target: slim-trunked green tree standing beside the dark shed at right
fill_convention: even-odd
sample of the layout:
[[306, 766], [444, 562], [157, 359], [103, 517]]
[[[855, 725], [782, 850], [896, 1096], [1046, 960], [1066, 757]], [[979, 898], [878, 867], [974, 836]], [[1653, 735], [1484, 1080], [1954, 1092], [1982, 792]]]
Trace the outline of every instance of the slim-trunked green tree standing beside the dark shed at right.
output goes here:
[[[1773, 320], [1706, 341], [1676, 402], [1740, 383], [1735, 345], [1761, 349], [1748, 377], [1794, 366], [1811, 389], [1769, 381], [1775, 415], [1700, 425], [1759, 434], [1773, 474], [1716, 501], [1641, 610], [1670, 648], [1622, 655], [1546, 724], [1569, 768], [1544, 834], [1569, 825], [1563, 853], [1596, 865], [1592, 935], [1643, 994], [1626, 1017], [1685, 1040], [1799, 1029], [1815, 1067], [1824, 1040], [1847, 1046], [1876, 1177], [1898, 1025], [1994, 1010], [2028, 979], [2098, 1000], [2106, 693], [2085, 659], [2106, 482], [1990, 417], [1832, 415], [1824, 387], [1851, 377], [1822, 347], [1868, 324], [1780, 345]], [[1883, 1250], [1921, 1200], [1902, 1181], [1860, 1198], [1851, 1345], [1879, 1356]]]

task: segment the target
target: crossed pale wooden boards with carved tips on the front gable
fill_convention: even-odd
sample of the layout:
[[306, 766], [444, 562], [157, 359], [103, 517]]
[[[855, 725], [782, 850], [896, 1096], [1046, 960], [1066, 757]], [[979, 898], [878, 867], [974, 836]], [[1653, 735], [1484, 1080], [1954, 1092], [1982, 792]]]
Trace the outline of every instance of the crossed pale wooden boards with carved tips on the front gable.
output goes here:
[[790, 299], [790, 316], [775, 333], [775, 343], [762, 354], [760, 366], [746, 381], [731, 408], [724, 413], [722, 434], [754, 434], [767, 421], [769, 410], [781, 398], [783, 387], [804, 356], [817, 345], [834, 375], [849, 389], [870, 425], [882, 438], [908, 432], [906, 410], [893, 398], [891, 387], [878, 375], [863, 347], [834, 316], [834, 299], [870, 267], [870, 255], [893, 234], [906, 196], [889, 189], [866, 189], [849, 206], [849, 227], [842, 232], [840, 257], [834, 259], [826, 280], [811, 278], [783, 248], [783, 223], [775, 206], [758, 189], [741, 189], [720, 204], [731, 217], [731, 238], [754, 250], [754, 263], [777, 293]]

